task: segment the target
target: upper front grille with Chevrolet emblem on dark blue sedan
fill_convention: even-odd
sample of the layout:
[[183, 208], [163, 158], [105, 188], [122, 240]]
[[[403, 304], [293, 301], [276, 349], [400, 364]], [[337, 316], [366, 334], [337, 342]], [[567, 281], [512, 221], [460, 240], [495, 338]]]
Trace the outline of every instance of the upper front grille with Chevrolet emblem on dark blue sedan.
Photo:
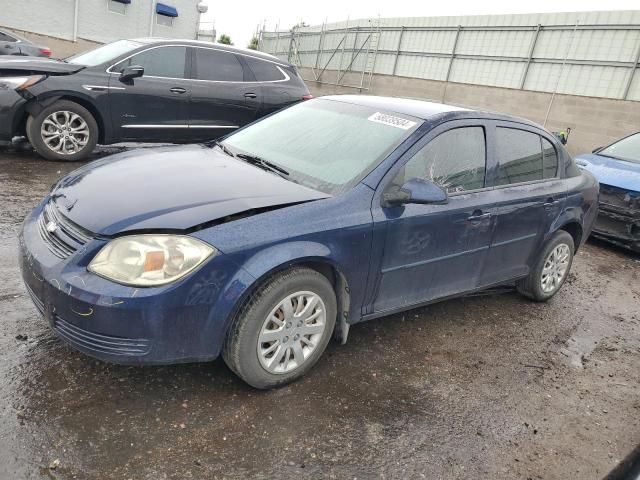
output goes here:
[[[50, 232], [47, 225], [57, 228]], [[91, 232], [62, 215], [53, 201], [48, 202], [38, 217], [38, 232], [47, 248], [58, 258], [67, 258], [93, 238]]]

